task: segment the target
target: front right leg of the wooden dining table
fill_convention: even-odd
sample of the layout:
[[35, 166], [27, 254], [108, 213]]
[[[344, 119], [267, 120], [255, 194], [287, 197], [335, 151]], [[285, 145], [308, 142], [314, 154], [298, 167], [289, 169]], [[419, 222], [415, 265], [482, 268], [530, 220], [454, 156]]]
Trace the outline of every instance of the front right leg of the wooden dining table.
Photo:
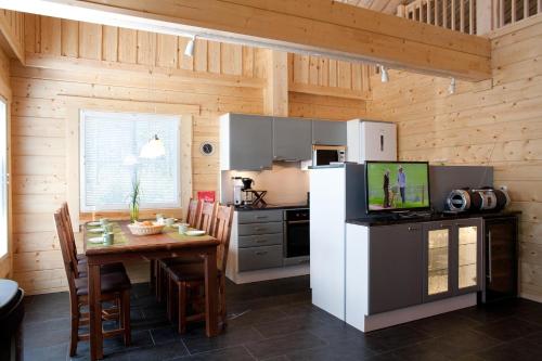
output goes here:
[[205, 326], [207, 337], [218, 335], [217, 247], [205, 254]]

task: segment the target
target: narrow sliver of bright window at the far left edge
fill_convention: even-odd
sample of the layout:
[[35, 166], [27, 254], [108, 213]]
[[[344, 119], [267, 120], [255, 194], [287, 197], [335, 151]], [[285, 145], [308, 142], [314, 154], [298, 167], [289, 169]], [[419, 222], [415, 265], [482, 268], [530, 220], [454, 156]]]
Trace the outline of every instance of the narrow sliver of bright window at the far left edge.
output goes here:
[[0, 100], [0, 257], [8, 254], [8, 106]]

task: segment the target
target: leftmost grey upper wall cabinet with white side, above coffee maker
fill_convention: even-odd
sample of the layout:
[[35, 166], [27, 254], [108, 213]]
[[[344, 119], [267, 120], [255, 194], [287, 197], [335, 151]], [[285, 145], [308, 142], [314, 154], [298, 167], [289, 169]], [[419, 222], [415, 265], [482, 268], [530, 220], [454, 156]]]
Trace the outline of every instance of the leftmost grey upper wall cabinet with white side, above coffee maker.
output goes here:
[[260, 170], [273, 163], [273, 118], [225, 114], [220, 117], [220, 169]]

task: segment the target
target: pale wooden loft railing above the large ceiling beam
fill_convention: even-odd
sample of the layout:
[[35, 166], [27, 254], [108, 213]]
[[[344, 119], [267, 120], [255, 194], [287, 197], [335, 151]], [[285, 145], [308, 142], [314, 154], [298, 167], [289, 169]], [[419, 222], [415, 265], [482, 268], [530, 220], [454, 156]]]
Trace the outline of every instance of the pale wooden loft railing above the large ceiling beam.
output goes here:
[[397, 15], [465, 34], [486, 34], [542, 13], [542, 0], [415, 0]]

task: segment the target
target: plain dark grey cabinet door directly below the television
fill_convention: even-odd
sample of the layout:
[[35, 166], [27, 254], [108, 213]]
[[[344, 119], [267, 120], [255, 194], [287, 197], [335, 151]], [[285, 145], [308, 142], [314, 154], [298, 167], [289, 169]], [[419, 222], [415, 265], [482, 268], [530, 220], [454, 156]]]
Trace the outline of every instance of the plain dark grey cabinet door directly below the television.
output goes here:
[[369, 253], [369, 314], [422, 304], [421, 224], [371, 228]]

